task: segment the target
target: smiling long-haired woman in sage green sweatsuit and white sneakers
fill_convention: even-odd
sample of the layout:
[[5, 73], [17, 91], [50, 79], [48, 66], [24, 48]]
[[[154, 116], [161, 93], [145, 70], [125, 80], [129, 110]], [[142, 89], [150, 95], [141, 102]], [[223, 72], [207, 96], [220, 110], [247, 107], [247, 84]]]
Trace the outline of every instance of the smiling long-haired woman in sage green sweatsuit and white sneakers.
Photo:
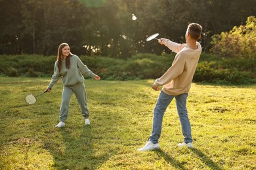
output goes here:
[[95, 78], [95, 80], [100, 80], [100, 76], [95, 75], [77, 56], [70, 52], [70, 46], [67, 43], [60, 44], [58, 47], [57, 61], [55, 61], [54, 64], [54, 73], [47, 87], [47, 92], [50, 92], [53, 85], [62, 78], [64, 86], [62, 91], [62, 103], [60, 105], [60, 122], [55, 127], [65, 126], [64, 122], [68, 118], [68, 108], [73, 92], [79, 103], [81, 113], [83, 117], [85, 117], [85, 125], [90, 124], [85, 93], [85, 79], [82, 74], [87, 74], [91, 76], [91, 78]]

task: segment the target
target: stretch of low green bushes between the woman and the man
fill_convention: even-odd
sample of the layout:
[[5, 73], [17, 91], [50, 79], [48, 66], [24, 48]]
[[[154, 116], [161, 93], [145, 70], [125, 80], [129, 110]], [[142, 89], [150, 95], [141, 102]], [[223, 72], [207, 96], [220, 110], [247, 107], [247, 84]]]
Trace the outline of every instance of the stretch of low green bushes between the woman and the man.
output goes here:
[[81, 56], [91, 71], [106, 80], [158, 78], [171, 65], [174, 55], [137, 54], [129, 59]]

